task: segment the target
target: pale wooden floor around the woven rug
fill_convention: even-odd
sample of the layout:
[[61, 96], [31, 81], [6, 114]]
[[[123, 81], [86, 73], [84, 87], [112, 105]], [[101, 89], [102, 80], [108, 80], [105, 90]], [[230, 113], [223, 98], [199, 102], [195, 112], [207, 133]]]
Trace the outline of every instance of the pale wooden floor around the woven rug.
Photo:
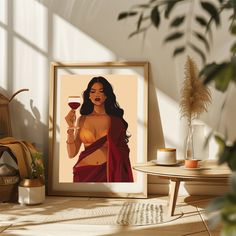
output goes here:
[[[151, 199], [157, 199], [167, 203], [167, 197], [153, 196]], [[194, 197], [179, 197], [177, 202], [177, 211], [181, 210], [183, 216], [174, 221], [149, 226], [114, 226], [114, 225], [78, 225], [71, 222], [57, 222], [51, 224], [30, 225], [25, 224], [24, 227], [14, 227], [14, 225], [5, 229], [1, 233], [0, 219], [0, 235], [1, 236], [74, 236], [74, 235], [161, 235], [161, 236], [218, 236], [220, 235], [220, 226], [214, 229], [209, 229], [209, 223], [205, 215], [205, 208], [211, 201], [212, 197], [194, 196]], [[91, 199], [96, 201], [96, 199]], [[104, 199], [106, 200], [106, 199]], [[47, 201], [53, 201], [53, 198], [48, 197]], [[101, 202], [101, 199], [99, 199]], [[27, 222], [26, 222], [27, 223]], [[5, 222], [6, 224], [6, 222]], [[4, 222], [2, 222], [4, 226]]]

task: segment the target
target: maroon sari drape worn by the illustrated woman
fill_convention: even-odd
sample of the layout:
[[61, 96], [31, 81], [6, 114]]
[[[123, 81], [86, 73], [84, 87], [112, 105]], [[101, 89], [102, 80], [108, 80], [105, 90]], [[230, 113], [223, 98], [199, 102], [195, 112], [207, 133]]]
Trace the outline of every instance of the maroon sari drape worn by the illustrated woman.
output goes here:
[[[129, 147], [125, 141], [125, 127], [121, 118], [111, 116], [111, 126], [104, 136], [80, 153], [73, 167], [74, 182], [133, 182]], [[81, 160], [108, 141], [108, 161], [102, 165], [77, 166]]]

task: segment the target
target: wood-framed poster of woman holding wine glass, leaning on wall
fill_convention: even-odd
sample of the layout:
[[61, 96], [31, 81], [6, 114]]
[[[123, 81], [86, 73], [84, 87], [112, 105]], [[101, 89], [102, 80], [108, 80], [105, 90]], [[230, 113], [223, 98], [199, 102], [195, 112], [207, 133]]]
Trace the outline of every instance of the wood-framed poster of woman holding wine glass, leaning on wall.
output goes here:
[[51, 63], [49, 195], [146, 197], [147, 62]]

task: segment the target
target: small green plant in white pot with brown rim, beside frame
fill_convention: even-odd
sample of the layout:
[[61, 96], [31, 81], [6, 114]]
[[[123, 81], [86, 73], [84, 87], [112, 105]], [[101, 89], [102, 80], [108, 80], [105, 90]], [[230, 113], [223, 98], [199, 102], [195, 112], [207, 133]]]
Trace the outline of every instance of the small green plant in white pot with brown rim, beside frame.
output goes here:
[[30, 176], [23, 179], [18, 187], [18, 202], [26, 205], [40, 204], [45, 200], [43, 155], [34, 152], [31, 156]]

